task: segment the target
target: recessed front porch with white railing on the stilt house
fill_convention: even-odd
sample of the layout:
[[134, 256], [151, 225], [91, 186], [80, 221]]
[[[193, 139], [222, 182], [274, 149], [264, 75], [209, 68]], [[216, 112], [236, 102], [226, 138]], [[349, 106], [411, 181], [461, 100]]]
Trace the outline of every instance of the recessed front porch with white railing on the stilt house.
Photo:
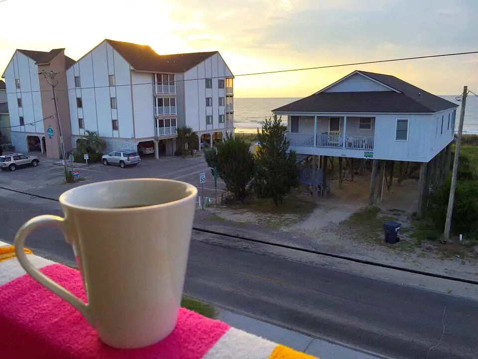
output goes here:
[[289, 116], [287, 138], [299, 154], [373, 157], [375, 118]]

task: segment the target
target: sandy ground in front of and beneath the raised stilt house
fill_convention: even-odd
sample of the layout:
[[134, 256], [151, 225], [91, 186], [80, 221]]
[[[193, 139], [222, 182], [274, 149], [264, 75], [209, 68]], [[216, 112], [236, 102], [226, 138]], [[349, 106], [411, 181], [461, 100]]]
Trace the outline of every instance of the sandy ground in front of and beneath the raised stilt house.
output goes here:
[[[331, 193], [320, 197], [319, 203], [308, 215], [298, 213], [258, 213], [244, 208], [211, 208], [214, 216], [236, 223], [252, 223], [281, 231], [301, 233], [317, 245], [330, 248], [333, 253], [355, 258], [386, 263], [398, 267], [440, 273], [453, 277], [478, 280], [478, 253], [460, 253], [456, 256], [457, 244], [442, 245], [439, 242], [418, 243], [410, 238], [413, 228], [410, 214], [416, 210], [418, 181], [409, 179], [400, 186], [392, 185], [390, 193], [383, 189], [380, 212], [365, 224], [360, 223], [360, 212], [368, 201], [369, 173], [355, 176], [354, 181], [344, 181], [338, 188], [331, 183]], [[305, 193], [305, 191], [304, 191]], [[311, 200], [303, 194], [303, 200]], [[400, 242], [386, 244], [383, 241], [382, 225], [386, 220], [398, 221]], [[300, 243], [297, 243], [300, 245]]]

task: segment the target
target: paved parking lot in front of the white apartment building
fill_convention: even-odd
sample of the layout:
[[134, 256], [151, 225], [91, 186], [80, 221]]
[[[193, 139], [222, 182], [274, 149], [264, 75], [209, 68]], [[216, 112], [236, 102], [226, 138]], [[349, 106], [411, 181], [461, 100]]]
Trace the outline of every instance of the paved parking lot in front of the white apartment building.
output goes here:
[[[40, 159], [38, 167], [25, 167], [15, 172], [0, 171], [0, 186], [57, 198], [72, 186], [92, 182], [111, 179], [164, 178], [194, 184], [199, 189], [199, 196], [201, 196], [199, 174], [205, 172], [204, 196], [211, 198], [215, 196], [214, 177], [211, 175], [211, 169], [208, 168], [202, 154], [193, 158], [183, 159], [170, 156], [158, 160], [154, 159], [154, 156], [145, 155], [141, 157], [142, 161], [137, 166], [124, 169], [119, 166], [91, 164], [74, 168], [74, 170], [79, 171], [80, 178], [83, 179], [74, 184], [65, 183], [63, 166], [54, 165], [54, 160], [38, 157]], [[218, 179], [218, 201], [221, 200], [220, 195], [223, 190], [225, 190], [224, 182]]]

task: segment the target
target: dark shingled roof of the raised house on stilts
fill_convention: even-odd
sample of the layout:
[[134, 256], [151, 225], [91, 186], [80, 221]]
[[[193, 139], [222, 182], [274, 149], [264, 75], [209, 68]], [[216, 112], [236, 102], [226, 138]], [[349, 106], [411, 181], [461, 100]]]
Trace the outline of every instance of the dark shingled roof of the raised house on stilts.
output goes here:
[[[422, 90], [395, 76], [354, 71], [368, 76], [395, 91], [318, 92], [281, 106], [273, 112], [365, 112], [365, 113], [435, 113], [457, 104]], [[350, 76], [349, 75], [349, 76]], [[344, 79], [346, 79], [346, 76]]]

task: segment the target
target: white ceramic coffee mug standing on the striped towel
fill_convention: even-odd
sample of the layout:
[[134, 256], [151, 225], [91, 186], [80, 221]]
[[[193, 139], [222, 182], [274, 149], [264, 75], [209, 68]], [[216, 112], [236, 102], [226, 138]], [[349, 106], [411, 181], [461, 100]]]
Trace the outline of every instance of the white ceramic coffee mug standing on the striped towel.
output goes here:
[[[197, 189], [169, 179], [119, 179], [60, 196], [65, 218], [41, 215], [15, 236], [21, 266], [69, 302], [115, 348], [141, 348], [167, 337], [183, 292]], [[23, 252], [35, 228], [61, 229], [73, 245], [88, 303], [34, 268]]]

